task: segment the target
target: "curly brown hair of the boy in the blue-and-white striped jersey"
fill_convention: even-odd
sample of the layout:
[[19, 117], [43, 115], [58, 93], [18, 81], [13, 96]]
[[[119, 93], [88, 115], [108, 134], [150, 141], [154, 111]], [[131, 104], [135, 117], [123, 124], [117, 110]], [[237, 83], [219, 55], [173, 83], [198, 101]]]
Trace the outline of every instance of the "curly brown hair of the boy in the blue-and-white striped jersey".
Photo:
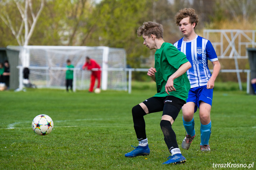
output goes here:
[[195, 9], [193, 8], [184, 8], [179, 10], [179, 12], [177, 12], [177, 14], [175, 15], [175, 19], [176, 19], [176, 25], [179, 25], [179, 22], [183, 19], [183, 18], [187, 18], [189, 17], [189, 23], [193, 24], [195, 22], [195, 26], [198, 23], [198, 15], [195, 14]]

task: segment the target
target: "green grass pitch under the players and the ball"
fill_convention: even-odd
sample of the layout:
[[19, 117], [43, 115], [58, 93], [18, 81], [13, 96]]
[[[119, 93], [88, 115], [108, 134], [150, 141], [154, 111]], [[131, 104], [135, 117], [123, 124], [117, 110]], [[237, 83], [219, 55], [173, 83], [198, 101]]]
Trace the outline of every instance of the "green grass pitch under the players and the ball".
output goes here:
[[[131, 109], [155, 94], [151, 85], [141, 87], [149, 90], [133, 88], [132, 94], [49, 89], [0, 92], [0, 169], [224, 169], [213, 168], [213, 163], [230, 162], [254, 162], [250, 169], [255, 169], [256, 96], [244, 91], [214, 91], [210, 153], [201, 153], [199, 148], [198, 112], [196, 137], [189, 150], [181, 148], [185, 129], [180, 112], [172, 127], [187, 162], [162, 165], [169, 153], [159, 112], [144, 116], [150, 155], [126, 158], [131, 145], [138, 145]], [[32, 130], [32, 120], [39, 114], [53, 119], [54, 129], [47, 136]]]

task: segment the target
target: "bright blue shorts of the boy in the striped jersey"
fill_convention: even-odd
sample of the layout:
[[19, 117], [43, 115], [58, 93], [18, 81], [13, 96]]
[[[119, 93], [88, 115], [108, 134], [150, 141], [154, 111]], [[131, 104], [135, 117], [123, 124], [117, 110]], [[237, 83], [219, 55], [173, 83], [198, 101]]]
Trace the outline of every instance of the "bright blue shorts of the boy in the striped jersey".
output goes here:
[[194, 113], [199, 108], [200, 101], [208, 103], [212, 106], [212, 96], [213, 96], [213, 89], [207, 89], [206, 85], [199, 86], [195, 88], [191, 88], [188, 92], [187, 102], [194, 102], [195, 103], [195, 110]]

